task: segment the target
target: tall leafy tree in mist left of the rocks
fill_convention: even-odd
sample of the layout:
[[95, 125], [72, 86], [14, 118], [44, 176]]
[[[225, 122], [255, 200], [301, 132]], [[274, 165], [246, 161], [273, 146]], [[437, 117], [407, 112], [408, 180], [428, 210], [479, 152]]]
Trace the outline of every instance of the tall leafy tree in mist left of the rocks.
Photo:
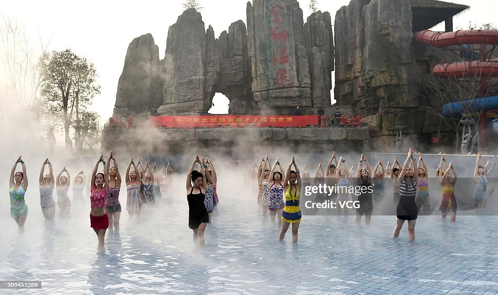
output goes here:
[[73, 110], [79, 120], [80, 111], [86, 111], [92, 99], [100, 94], [95, 66], [69, 49], [45, 53], [39, 66], [41, 94], [47, 109], [54, 117], [62, 119], [66, 145], [72, 146], [69, 126], [73, 122]]

